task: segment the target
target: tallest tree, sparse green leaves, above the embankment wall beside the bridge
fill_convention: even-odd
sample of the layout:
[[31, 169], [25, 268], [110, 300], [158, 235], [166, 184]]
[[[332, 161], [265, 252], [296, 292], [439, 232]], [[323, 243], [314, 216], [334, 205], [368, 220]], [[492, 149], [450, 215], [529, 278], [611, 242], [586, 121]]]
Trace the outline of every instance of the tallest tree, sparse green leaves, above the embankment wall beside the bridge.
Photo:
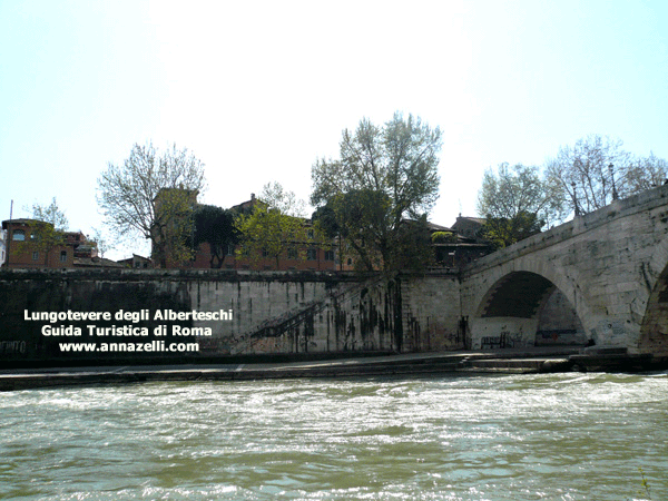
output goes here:
[[330, 205], [341, 237], [366, 269], [397, 269], [401, 225], [426, 215], [439, 196], [441, 130], [420, 118], [394, 114], [379, 127], [364, 118], [345, 129], [338, 159], [312, 167], [315, 206]]

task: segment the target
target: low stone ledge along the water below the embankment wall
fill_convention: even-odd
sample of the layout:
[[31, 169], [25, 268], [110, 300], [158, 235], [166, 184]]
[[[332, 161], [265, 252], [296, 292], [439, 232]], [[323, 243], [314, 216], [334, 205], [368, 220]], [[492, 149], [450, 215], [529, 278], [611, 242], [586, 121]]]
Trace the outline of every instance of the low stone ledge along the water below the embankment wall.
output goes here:
[[50, 367], [0, 371], [0, 391], [158, 381], [249, 381], [296, 377], [435, 376], [443, 374], [639, 372], [668, 369], [668, 361], [577, 348], [446, 352], [283, 363]]

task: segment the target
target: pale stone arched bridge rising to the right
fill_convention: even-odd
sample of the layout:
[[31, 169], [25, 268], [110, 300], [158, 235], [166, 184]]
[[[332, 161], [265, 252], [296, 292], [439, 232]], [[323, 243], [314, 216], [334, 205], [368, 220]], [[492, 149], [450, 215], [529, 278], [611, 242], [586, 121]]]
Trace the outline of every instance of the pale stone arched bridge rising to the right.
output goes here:
[[668, 354], [668, 186], [462, 269], [471, 348], [596, 344]]

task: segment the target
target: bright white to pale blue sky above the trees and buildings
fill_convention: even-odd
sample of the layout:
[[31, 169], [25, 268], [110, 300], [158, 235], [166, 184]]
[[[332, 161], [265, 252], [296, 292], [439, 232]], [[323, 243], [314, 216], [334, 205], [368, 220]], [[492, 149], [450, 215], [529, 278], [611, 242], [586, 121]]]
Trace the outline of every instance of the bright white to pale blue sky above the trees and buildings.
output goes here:
[[0, 219], [56, 197], [105, 233], [97, 179], [149, 141], [205, 164], [202, 203], [307, 200], [343, 129], [401, 111], [443, 132], [451, 226], [488, 168], [591, 134], [668, 158], [667, 26], [665, 0], [0, 0]]

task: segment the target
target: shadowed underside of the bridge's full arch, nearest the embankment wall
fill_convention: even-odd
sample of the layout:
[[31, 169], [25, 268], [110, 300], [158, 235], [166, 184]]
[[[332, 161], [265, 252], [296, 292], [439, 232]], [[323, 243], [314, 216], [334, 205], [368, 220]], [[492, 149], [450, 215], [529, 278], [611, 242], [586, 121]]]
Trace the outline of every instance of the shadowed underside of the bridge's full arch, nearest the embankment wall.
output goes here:
[[473, 348], [583, 345], [584, 328], [566, 295], [532, 272], [511, 272], [488, 292], [472, 331]]

